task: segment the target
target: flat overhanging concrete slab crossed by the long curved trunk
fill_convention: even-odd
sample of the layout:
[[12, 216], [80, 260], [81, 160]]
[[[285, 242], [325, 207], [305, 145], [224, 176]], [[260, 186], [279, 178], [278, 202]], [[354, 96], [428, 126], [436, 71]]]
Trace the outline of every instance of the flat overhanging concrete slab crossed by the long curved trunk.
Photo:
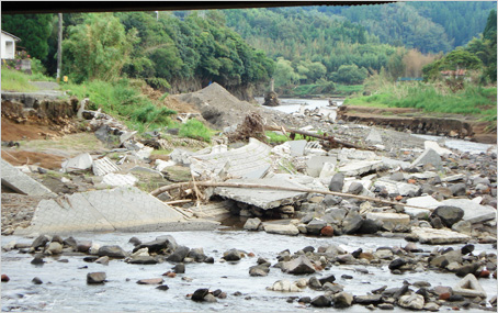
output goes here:
[[[265, 185], [275, 187], [305, 188], [303, 185], [290, 179], [271, 177], [262, 179], [229, 179], [227, 182]], [[251, 204], [263, 210], [274, 209], [281, 205], [292, 204], [306, 197], [306, 192], [272, 190], [265, 188], [231, 188], [216, 187], [214, 194], [225, 197], [235, 201]]]

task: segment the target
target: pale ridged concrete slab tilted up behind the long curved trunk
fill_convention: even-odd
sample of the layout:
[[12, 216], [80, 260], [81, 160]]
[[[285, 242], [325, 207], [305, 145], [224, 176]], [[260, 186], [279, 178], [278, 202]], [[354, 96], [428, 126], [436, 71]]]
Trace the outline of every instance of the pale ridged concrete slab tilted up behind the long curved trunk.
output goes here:
[[254, 172], [264, 174], [268, 170], [272, 163], [270, 153], [270, 146], [249, 138], [249, 144], [237, 149], [191, 156], [191, 171], [194, 176], [212, 177], [226, 169], [231, 177], [254, 177]]

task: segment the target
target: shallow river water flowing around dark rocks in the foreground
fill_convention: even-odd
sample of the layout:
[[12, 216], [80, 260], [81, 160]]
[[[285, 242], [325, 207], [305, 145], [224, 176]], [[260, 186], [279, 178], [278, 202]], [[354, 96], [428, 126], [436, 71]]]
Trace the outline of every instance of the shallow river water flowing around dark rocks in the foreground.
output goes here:
[[[269, 259], [272, 265], [276, 262], [276, 256], [284, 249], [291, 253], [314, 246], [336, 244], [348, 251], [359, 247], [363, 250], [375, 250], [380, 246], [405, 246], [403, 238], [380, 238], [362, 236], [339, 236], [333, 238], [319, 238], [306, 236], [280, 236], [264, 232], [245, 231], [215, 231], [215, 232], [174, 232], [172, 235], [178, 244], [190, 248], [202, 247], [207, 256], [215, 258], [215, 264], [186, 264], [185, 273], [176, 278], [165, 277], [168, 291], [155, 289], [155, 286], [137, 284], [139, 279], [159, 278], [172, 264], [158, 265], [129, 265], [122, 260], [112, 260], [109, 266], [89, 264], [81, 256], [67, 256], [68, 262], [59, 262], [55, 258], [45, 258], [46, 264], [42, 267], [31, 265], [32, 255], [19, 254], [16, 250], [2, 253], [1, 272], [10, 277], [9, 282], [2, 282], [2, 311], [295, 311], [301, 305], [294, 301], [287, 303], [288, 297], [316, 297], [322, 294], [308, 288], [298, 293], [269, 291], [276, 280], [297, 280], [302, 277], [283, 273], [280, 269], [271, 268], [268, 277], [250, 277], [249, 267], [256, 265], [258, 257]], [[75, 234], [77, 239], [90, 239], [100, 245], [120, 245], [125, 250], [132, 250], [128, 244], [132, 236], [146, 242], [165, 233], [109, 233], [109, 234]], [[2, 245], [16, 241], [31, 243], [32, 239], [22, 237], [4, 237]], [[429, 253], [434, 246], [420, 245]], [[459, 246], [454, 246], [455, 248]], [[246, 257], [238, 262], [223, 262], [223, 253], [230, 248], [237, 248], [247, 253], [253, 253], [256, 257]], [[490, 245], [476, 245], [475, 253], [491, 251]], [[88, 268], [82, 268], [88, 266]], [[360, 272], [363, 268], [369, 273]], [[101, 286], [89, 286], [86, 282], [88, 272], [105, 271], [107, 282]], [[341, 275], [353, 276], [353, 279], [344, 280]], [[335, 275], [336, 282], [344, 286], [344, 290], [354, 294], [366, 294], [371, 290], [387, 284], [389, 288], [401, 287], [403, 281], [429, 281], [433, 287], [454, 286], [460, 278], [453, 273], [417, 272], [392, 275], [387, 267], [375, 266], [332, 266], [330, 270], [324, 270], [316, 276]], [[43, 284], [33, 284], [31, 280], [38, 277]], [[191, 282], [182, 280], [183, 277], [192, 278]], [[488, 294], [488, 299], [497, 294], [496, 280], [479, 280]], [[185, 295], [199, 288], [211, 290], [222, 289], [228, 297], [218, 300], [217, 303], [196, 303]], [[233, 293], [239, 291], [241, 295]], [[321, 311], [317, 309], [308, 309]], [[325, 309], [324, 309], [325, 310]], [[329, 309], [330, 310], [330, 309]], [[354, 305], [346, 312], [370, 312], [367, 309]]]

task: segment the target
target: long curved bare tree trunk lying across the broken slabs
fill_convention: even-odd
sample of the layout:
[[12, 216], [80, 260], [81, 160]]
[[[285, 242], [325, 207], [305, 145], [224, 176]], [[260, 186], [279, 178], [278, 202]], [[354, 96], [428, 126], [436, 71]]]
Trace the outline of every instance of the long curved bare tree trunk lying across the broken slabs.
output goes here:
[[[389, 205], [401, 205], [401, 206], [431, 210], [431, 211], [433, 210], [433, 209], [429, 209], [429, 208], [409, 205], [409, 204], [406, 204], [406, 203], [393, 202], [393, 201], [382, 200], [382, 199], [372, 198], [372, 197], [350, 194], [350, 193], [329, 191], [329, 190], [315, 190], [315, 189], [308, 189], [308, 188], [268, 186], [268, 185], [254, 185], [254, 183], [238, 183], [238, 182], [223, 182], [223, 181], [219, 181], [219, 182], [217, 182], [217, 181], [196, 181], [194, 186], [195, 187], [256, 188], [256, 189], [259, 188], [259, 189], [296, 191], [296, 192], [307, 192], [307, 193], [321, 193], [321, 194], [331, 194], [331, 195], [339, 195], [339, 197], [346, 197], [346, 198], [354, 198], [354, 199], [360, 199], [360, 200], [373, 201], [373, 202], [378, 202], [378, 203], [389, 204]], [[161, 194], [165, 191], [168, 191], [168, 190], [171, 190], [171, 189], [177, 189], [177, 188], [184, 188], [184, 187], [192, 187], [192, 181], [173, 183], [173, 185], [168, 185], [168, 186], [160, 187], [160, 188], [151, 191], [150, 195], [157, 197], [157, 195]]]

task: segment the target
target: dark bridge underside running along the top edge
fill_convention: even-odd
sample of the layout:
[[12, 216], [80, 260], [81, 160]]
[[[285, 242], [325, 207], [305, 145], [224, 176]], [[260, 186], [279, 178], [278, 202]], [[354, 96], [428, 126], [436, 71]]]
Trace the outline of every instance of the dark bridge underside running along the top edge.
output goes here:
[[305, 5], [365, 5], [397, 1], [2, 1], [2, 14], [182, 11]]

